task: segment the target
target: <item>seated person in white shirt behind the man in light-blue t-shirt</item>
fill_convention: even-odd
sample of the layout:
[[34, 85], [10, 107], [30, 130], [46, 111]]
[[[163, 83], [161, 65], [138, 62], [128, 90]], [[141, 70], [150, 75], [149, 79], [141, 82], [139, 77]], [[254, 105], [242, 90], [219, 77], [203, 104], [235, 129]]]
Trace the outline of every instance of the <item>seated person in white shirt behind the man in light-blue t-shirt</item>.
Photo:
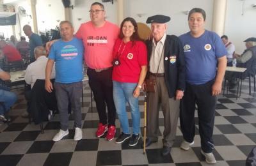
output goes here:
[[[25, 74], [25, 81], [27, 84], [31, 85], [31, 89], [33, 88], [37, 79], [45, 80], [45, 67], [48, 61], [46, 57], [46, 50], [42, 46], [35, 47], [34, 50], [35, 59], [36, 61], [29, 64], [26, 74]], [[52, 68], [51, 79], [55, 78], [55, 66]], [[31, 98], [31, 89], [27, 89], [25, 92], [25, 98], [29, 101]], [[24, 112], [22, 117], [28, 116], [28, 112]]]

